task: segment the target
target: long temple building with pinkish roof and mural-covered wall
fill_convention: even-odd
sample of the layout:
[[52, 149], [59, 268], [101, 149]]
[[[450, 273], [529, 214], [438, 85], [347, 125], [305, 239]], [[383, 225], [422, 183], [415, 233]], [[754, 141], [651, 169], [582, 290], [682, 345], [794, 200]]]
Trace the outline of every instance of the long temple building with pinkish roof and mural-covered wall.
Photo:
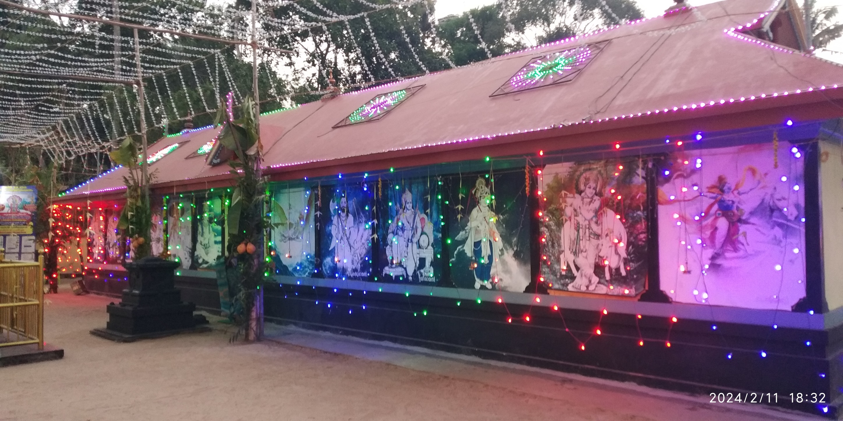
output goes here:
[[[266, 321], [835, 417], [843, 67], [798, 13], [679, 5], [264, 113]], [[225, 313], [218, 131], [148, 160], [153, 253]], [[101, 294], [132, 258], [124, 171], [54, 201], [80, 233], [56, 274]]]

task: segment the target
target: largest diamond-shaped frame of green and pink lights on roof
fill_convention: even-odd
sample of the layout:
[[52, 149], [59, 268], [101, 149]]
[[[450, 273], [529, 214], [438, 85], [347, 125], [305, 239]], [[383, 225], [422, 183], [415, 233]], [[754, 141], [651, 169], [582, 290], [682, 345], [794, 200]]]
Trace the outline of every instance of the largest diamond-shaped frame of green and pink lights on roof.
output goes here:
[[571, 82], [579, 72], [588, 66], [609, 41], [580, 45], [543, 56], [531, 58], [524, 67], [515, 72], [501, 88], [489, 95], [496, 97], [507, 93], [542, 88], [557, 83]]

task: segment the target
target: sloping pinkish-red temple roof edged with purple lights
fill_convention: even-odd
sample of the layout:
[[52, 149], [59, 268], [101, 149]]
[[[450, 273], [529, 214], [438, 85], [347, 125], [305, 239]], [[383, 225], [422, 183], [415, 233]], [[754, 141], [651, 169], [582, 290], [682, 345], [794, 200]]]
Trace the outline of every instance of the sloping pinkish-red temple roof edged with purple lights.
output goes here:
[[[843, 67], [742, 34], [761, 24], [770, 0], [726, 0], [642, 19], [470, 66], [316, 101], [260, 119], [268, 172], [500, 144], [529, 132], [556, 137], [701, 115], [843, 98]], [[491, 97], [533, 57], [608, 41], [570, 82]], [[334, 127], [376, 95], [424, 85], [382, 119]], [[843, 108], [840, 108], [843, 116]], [[157, 183], [219, 179], [227, 165], [186, 158], [217, 129], [159, 141], [188, 141], [153, 164]], [[171, 140], [171, 141], [170, 141]], [[117, 170], [68, 197], [122, 185]]]

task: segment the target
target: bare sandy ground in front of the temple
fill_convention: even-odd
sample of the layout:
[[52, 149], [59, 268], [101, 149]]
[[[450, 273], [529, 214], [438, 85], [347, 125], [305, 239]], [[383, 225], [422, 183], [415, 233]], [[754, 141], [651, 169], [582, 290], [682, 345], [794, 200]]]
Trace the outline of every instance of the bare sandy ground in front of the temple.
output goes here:
[[272, 325], [277, 340], [260, 344], [229, 344], [223, 330], [115, 344], [89, 334], [113, 299], [47, 298], [46, 339], [65, 357], [0, 369], [0, 420], [803, 418]]

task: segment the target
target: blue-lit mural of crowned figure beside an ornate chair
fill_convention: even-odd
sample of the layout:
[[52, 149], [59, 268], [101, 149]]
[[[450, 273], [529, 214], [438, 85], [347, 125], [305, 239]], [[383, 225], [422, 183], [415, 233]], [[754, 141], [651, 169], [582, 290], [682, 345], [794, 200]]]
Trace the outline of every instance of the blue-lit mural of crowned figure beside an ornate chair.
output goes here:
[[[431, 183], [413, 180], [389, 189], [387, 226], [381, 253], [384, 280], [436, 282], [441, 256], [441, 234], [431, 217], [441, 217]], [[433, 185], [437, 185], [433, 183]], [[401, 189], [403, 187], [403, 189]]]

